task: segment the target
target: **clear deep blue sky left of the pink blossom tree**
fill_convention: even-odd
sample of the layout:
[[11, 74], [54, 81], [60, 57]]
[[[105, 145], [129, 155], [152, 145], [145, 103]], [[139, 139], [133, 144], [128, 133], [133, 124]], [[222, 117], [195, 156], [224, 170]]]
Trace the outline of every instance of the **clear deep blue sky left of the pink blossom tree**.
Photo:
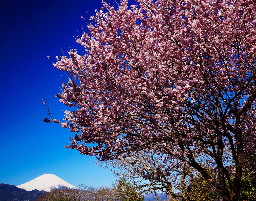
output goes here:
[[[55, 98], [65, 73], [47, 56], [83, 47], [73, 36], [87, 29], [81, 19], [100, 10], [100, 0], [1, 0], [0, 9], [0, 183], [20, 185], [46, 173], [77, 186], [108, 186], [115, 178], [97, 167], [95, 157], [66, 149], [74, 133], [37, 117], [62, 120], [64, 105]], [[68, 47], [69, 46], [69, 47]]]

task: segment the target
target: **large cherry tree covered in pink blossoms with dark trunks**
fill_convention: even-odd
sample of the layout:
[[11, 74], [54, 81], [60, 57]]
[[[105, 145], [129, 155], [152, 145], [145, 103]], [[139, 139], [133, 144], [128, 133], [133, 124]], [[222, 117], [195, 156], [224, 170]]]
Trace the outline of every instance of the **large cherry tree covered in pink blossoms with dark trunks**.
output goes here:
[[223, 200], [238, 200], [244, 154], [256, 143], [256, 2], [103, 5], [77, 40], [87, 54], [56, 57], [70, 76], [57, 97], [71, 111], [50, 121], [76, 132], [67, 148], [100, 160], [153, 149], [193, 167]]

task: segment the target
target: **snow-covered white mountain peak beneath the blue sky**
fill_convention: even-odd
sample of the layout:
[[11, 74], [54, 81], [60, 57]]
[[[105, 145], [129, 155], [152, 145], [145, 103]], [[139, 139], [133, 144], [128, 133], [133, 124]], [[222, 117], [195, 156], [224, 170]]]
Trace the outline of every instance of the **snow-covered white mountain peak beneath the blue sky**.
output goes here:
[[76, 186], [65, 182], [63, 179], [57, 177], [54, 174], [44, 174], [40, 177], [33, 179], [30, 182], [26, 182], [25, 184], [18, 185], [18, 188], [23, 188], [26, 191], [47, 191], [50, 192], [51, 189], [58, 189], [67, 187], [68, 189], [78, 189]]

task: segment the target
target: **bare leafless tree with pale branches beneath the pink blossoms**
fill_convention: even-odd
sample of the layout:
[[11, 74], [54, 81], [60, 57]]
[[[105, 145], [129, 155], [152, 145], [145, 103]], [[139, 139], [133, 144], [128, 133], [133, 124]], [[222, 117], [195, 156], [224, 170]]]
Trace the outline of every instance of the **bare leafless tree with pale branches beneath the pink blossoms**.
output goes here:
[[[202, 166], [208, 169], [211, 167], [211, 161], [206, 155], [197, 157]], [[95, 161], [95, 164], [111, 170], [118, 178], [125, 178], [141, 194], [154, 193], [156, 200], [156, 192], [159, 191], [175, 201], [193, 200], [197, 194], [196, 184], [203, 178], [182, 160], [159, 155], [153, 150], [134, 153], [133, 156], [122, 160]], [[212, 188], [214, 187], [211, 186], [211, 190]]]

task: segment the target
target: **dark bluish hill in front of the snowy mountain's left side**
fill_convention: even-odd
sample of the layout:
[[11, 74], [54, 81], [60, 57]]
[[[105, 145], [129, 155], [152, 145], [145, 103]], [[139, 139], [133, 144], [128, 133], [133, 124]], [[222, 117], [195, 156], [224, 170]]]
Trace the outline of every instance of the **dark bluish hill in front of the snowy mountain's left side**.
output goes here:
[[26, 191], [14, 185], [0, 184], [0, 201], [32, 201], [46, 191]]

